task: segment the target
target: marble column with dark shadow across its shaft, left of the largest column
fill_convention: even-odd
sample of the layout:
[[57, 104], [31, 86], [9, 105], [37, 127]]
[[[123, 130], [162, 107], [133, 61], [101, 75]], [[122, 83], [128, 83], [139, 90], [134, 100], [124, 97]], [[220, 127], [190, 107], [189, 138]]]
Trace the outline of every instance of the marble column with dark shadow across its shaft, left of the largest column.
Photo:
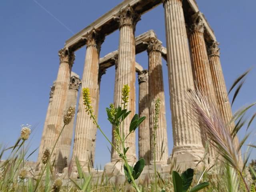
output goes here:
[[[167, 125], [165, 112], [165, 97], [164, 97], [164, 80], [162, 71], [162, 42], [155, 38], [148, 41], [148, 69], [149, 69], [149, 121], [150, 130], [153, 133], [154, 127], [154, 111], [155, 101], [160, 98], [160, 114], [158, 128], [156, 129], [156, 164], [167, 164], [168, 159], [168, 140], [167, 140]], [[153, 139], [151, 146], [153, 148]], [[151, 164], [154, 163], [153, 150], [151, 150]]]

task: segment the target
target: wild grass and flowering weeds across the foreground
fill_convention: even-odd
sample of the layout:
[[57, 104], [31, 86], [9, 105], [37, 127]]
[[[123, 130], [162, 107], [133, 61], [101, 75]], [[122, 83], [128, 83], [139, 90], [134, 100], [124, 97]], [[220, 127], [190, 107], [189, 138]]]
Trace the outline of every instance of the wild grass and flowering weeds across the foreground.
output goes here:
[[[244, 78], [247, 74], [248, 72], [242, 74], [230, 89], [231, 92], [232, 89], [237, 87], [232, 100], [233, 102], [238, 92], [240, 92], [240, 85], [244, 84]], [[98, 174], [98, 176], [95, 176], [93, 172], [84, 173], [78, 159], [76, 159], [78, 178], [72, 178], [70, 172], [68, 172], [67, 175], [56, 175], [54, 173], [54, 161], [51, 160], [54, 148], [44, 155], [44, 163], [42, 163], [41, 171], [39, 175], [36, 174], [26, 161], [26, 159], [31, 156], [31, 154], [27, 153], [30, 128], [24, 126], [20, 138], [17, 139], [13, 146], [0, 146], [0, 159], [2, 159], [3, 154], [8, 153], [8, 158], [0, 162], [0, 192], [184, 192], [185, 190], [180, 189], [182, 186], [186, 186], [186, 191], [192, 192], [196, 191], [194, 190], [194, 188], [196, 188], [195, 186], [200, 186], [200, 184], [204, 184], [205, 186], [209, 184], [209, 186], [201, 190], [204, 192], [255, 192], [254, 186], [256, 181], [252, 180], [252, 178], [256, 178], [256, 172], [253, 167], [254, 164], [251, 164], [249, 168], [252, 176], [249, 174], [248, 159], [250, 152], [256, 146], [247, 142], [248, 134], [245, 134], [239, 145], [235, 144], [234, 138], [242, 128], [246, 131], [250, 131], [250, 126], [255, 118], [255, 114], [248, 114], [248, 110], [254, 107], [256, 103], [243, 106], [234, 113], [232, 118], [232, 121], [235, 122], [234, 128], [230, 132], [228, 131], [230, 123], [224, 123], [218, 109], [200, 90], [187, 95], [186, 104], [194, 112], [193, 116], [190, 116], [191, 120], [200, 120], [200, 128], [202, 128], [204, 133], [202, 136], [214, 147], [214, 150], [218, 154], [214, 166], [205, 164], [203, 170], [187, 170], [186, 173], [180, 175], [180, 171], [177, 168], [178, 166], [174, 163], [170, 168], [170, 174], [161, 175], [155, 170], [153, 175], [148, 175], [146, 178], [142, 179], [141, 177], [136, 177], [136, 173], [139, 175], [141, 170], [138, 171], [135, 166], [129, 166], [125, 156], [128, 149], [124, 145], [124, 141], [129, 134], [127, 136], [122, 134], [122, 122], [125, 119], [125, 114], [128, 112], [125, 110], [127, 96], [126, 90], [126, 95], [123, 96], [123, 108], [118, 109], [112, 105], [107, 110], [110, 123], [117, 127], [116, 132], [118, 135], [116, 142], [119, 140], [120, 146], [113, 145], [110, 140], [106, 138], [116, 150], [118, 150], [124, 162], [126, 168], [126, 181], [124, 183], [120, 184], [118, 177], [116, 177], [116, 180], [113, 180], [113, 178], [106, 176], [105, 172]], [[90, 100], [87, 100], [85, 103], [87, 103], [87, 112], [89, 112], [92, 120], [100, 129], [100, 126], [96, 122], [96, 117], [91, 110]], [[118, 110], [120, 110], [120, 113], [123, 112], [123, 117], [117, 115]], [[245, 116], [248, 118], [245, 118]], [[64, 124], [68, 124], [73, 117], [74, 106], [67, 112], [66, 116], [64, 116]], [[139, 119], [140, 118], [137, 116], [133, 118], [130, 132], [133, 132], [138, 127]], [[65, 126], [62, 130], [64, 128]], [[104, 133], [102, 132], [102, 134]], [[55, 145], [57, 142], [58, 139]], [[239, 159], [241, 158], [242, 146], [247, 147], [247, 151], [242, 154], [243, 163], [240, 163]], [[204, 162], [204, 160], [202, 160], [202, 162]]]

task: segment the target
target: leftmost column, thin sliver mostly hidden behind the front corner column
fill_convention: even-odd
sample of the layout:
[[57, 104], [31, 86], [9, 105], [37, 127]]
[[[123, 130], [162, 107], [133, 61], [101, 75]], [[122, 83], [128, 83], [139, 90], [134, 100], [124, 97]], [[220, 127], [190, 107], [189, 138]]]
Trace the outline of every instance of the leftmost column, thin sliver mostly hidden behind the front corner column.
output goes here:
[[53, 82], [53, 85], [51, 86], [51, 90], [50, 90], [50, 98], [49, 98], [48, 108], [47, 108], [47, 112], [46, 112], [46, 118], [45, 118], [45, 121], [44, 121], [42, 139], [41, 139], [41, 142], [40, 142], [39, 152], [38, 152], [38, 159], [37, 159], [38, 166], [41, 164], [41, 158], [42, 158], [42, 154], [44, 152], [44, 139], [45, 139], [45, 137], [48, 137], [47, 125], [48, 125], [48, 121], [49, 121], [49, 118], [50, 118], [50, 113], [51, 113], [51, 110], [52, 110], [52, 96], [54, 94], [54, 89], [55, 89], [55, 81]]

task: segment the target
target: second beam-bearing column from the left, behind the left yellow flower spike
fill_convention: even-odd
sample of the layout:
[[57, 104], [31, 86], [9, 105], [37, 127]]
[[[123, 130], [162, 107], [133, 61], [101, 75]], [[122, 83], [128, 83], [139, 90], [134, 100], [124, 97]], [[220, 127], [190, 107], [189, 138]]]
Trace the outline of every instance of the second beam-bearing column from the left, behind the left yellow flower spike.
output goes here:
[[[89, 88], [92, 99], [94, 115], [98, 116], [98, 72], [99, 72], [99, 54], [100, 46], [104, 38], [96, 30], [92, 30], [86, 36], [86, 58], [84, 62], [84, 72], [82, 77], [82, 89]], [[72, 161], [75, 163], [75, 157], [78, 157], [81, 166], [86, 171], [88, 166], [93, 166], [95, 139], [97, 127], [93, 124], [90, 116], [84, 110], [82, 91], [79, 97], [78, 112], [76, 118], [76, 129], [74, 138], [74, 150]]]

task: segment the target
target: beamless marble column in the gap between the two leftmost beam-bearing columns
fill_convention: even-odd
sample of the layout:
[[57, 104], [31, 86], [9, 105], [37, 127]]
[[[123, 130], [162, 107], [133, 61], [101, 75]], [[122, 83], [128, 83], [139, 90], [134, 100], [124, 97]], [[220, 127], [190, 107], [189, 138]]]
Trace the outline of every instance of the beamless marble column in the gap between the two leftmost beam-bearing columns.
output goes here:
[[[78, 90], [80, 86], [81, 86], [81, 80], [79, 76], [76, 73], [71, 72], [65, 112], [68, 110], [68, 108], [71, 105], [76, 105]], [[74, 118], [71, 120], [70, 124], [66, 125], [66, 127], [62, 132], [62, 135], [60, 136], [60, 141], [58, 143], [58, 158], [56, 161], [57, 162], [56, 168], [58, 172], [62, 172], [63, 168], [68, 166], [68, 161], [70, 158], [71, 143], [73, 138], [73, 130], [74, 130]]]

